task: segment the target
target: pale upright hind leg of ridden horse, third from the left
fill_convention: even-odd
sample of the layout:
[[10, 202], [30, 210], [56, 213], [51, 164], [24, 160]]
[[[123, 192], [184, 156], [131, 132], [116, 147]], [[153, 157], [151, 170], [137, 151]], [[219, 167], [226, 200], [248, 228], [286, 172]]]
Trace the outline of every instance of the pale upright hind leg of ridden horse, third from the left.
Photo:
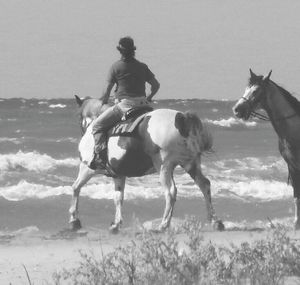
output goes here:
[[173, 179], [174, 164], [163, 164], [160, 170], [160, 183], [165, 189], [166, 205], [159, 230], [165, 230], [169, 227], [174, 205], [176, 202], [177, 188]]

